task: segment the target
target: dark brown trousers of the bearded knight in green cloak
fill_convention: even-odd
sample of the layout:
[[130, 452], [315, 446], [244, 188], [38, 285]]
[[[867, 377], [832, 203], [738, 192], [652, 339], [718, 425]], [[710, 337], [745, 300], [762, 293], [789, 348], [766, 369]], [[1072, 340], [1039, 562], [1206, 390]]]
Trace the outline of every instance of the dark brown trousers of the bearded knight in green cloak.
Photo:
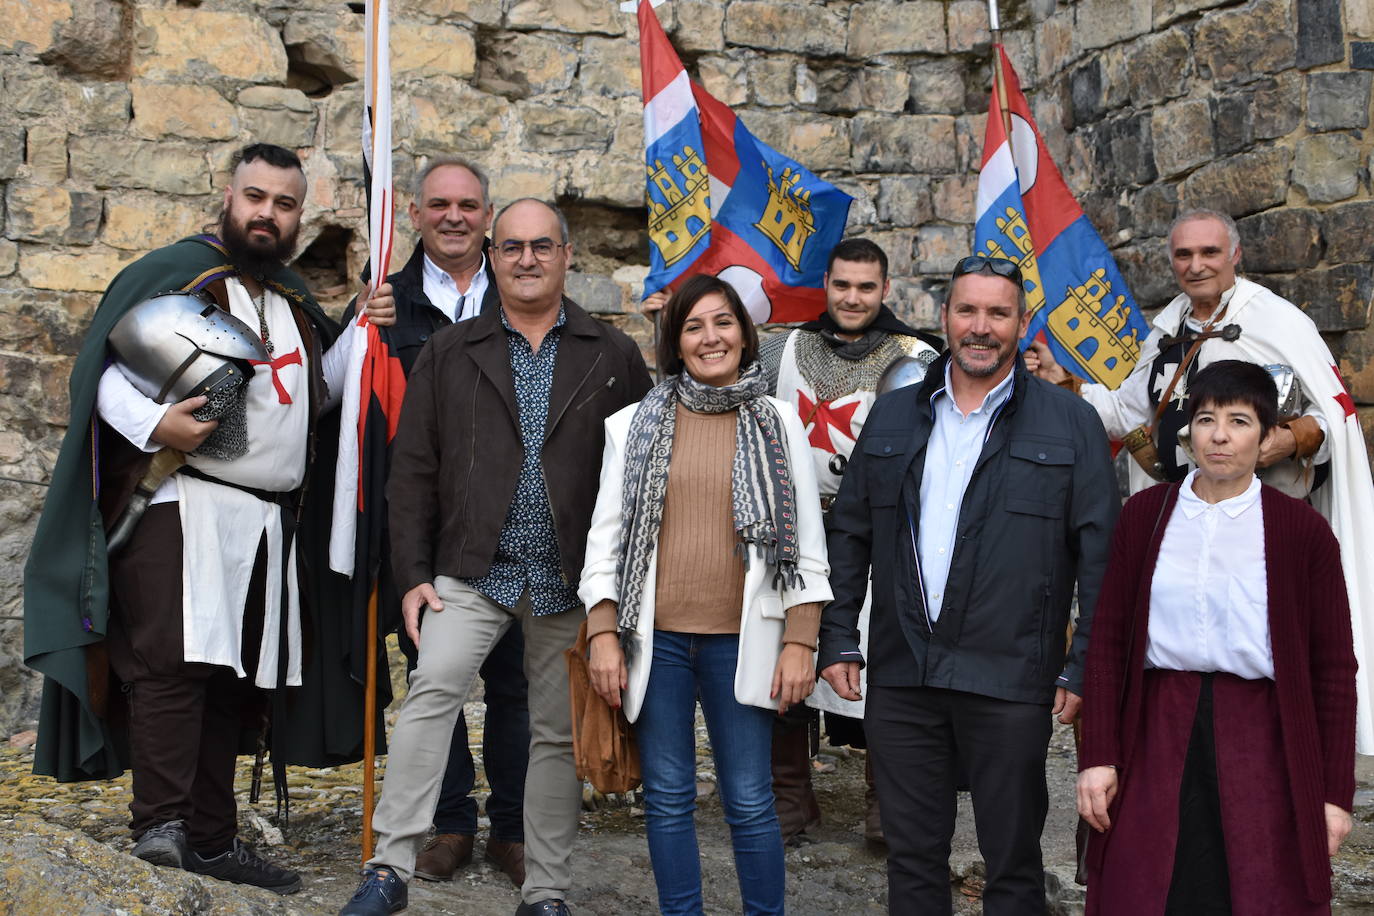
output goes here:
[[[183, 820], [191, 847], [218, 853], [238, 834], [234, 768], [245, 728], [258, 728], [264, 692], [253, 687], [262, 637], [264, 553], [243, 615], [249, 678], [183, 661], [181, 522], [176, 503], [148, 508], [110, 562], [110, 666], [129, 703], [135, 839]], [[286, 651], [284, 647], [282, 650]]]

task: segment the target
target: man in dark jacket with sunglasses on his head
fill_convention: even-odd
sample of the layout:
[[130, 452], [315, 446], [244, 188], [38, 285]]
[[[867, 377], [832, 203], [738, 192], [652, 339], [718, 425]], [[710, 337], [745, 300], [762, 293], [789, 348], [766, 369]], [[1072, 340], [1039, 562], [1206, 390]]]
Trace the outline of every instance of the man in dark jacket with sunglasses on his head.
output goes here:
[[941, 320], [948, 353], [921, 386], [874, 404], [840, 485], [818, 667], [840, 696], [859, 699], [867, 663], [890, 912], [951, 912], [963, 770], [987, 864], [984, 912], [1043, 913], [1050, 718], [1079, 713], [1116, 482], [1092, 408], [1021, 365], [1028, 316], [1015, 264], [963, 258]]

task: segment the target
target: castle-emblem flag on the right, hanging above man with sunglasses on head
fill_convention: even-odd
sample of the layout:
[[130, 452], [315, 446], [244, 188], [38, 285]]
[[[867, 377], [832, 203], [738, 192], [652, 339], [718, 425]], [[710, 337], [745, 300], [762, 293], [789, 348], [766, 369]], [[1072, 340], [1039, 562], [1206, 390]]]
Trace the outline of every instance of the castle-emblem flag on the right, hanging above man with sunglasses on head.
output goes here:
[[978, 174], [976, 249], [1021, 265], [1030, 312], [1022, 347], [1040, 336], [1062, 367], [1114, 389], [1139, 358], [1150, 327], [1050, 158], [1002, 45], [998, 66], [1011, 137], [993, 92]]

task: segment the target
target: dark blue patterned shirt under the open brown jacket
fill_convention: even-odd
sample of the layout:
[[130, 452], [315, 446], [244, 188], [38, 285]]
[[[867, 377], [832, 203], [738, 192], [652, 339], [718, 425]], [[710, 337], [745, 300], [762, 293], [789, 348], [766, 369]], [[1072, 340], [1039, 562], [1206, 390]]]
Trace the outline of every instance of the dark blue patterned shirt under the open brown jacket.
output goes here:
[[544, 335], [536, 352], [523, 334], [506, 320], [502, 327], [511, 350], [511, 376], [515, 379], [515, 407], [519, 412], [519, 438], [525, 448], [515, 497], [506, 512], [496, 558], [486, 575], [466, 580], [474, 589], [504, 607], [515, 607], [529, 591], [536, 617], [580, 607], [576, 582], [563, 577], [558, 560], [558, 531], [548, 507], [544, 485], [544, 427], [548, 423], [548, 396], [554, 389], [554, 363], [566, 314], [558, 309], [558, 321]]

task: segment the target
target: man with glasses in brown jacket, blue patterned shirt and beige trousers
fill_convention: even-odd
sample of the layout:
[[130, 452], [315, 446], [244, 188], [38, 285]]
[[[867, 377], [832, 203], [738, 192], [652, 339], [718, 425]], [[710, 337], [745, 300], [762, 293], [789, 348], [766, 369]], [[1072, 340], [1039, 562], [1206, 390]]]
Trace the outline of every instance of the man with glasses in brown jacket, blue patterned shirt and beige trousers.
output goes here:
[[430, 338], [393, 445], [392, 569], [419, 663], [392, 735], [376, 850], [341, 916], [405, 908], [453, 722], [511, 626], [525, 637], [530, 720], [515, 912], [569, 912], [581, 781], [562, 652], [584, 619], [577, 580], [602, 423], [651, 383], [633, 341], [563, 295], [572, 243], [556, 207], [517, 201], [492, 236], [499, 308]]

